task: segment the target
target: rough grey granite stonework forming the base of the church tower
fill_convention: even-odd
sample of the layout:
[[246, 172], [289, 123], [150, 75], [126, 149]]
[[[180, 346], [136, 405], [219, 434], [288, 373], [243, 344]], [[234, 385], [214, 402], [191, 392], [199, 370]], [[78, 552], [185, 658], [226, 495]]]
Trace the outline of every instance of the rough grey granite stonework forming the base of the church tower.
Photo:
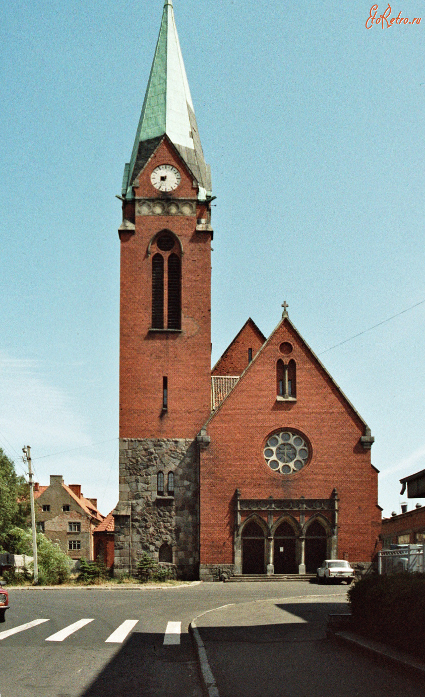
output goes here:
[[[157, 473], [174, 473], [174, 496], [157, 495]], [[173, 549], [185, 578], [199, 573], [198, 447], [187, 438], [121, 438], [120, 500], [114, 511], [114, 568], [134, 574], [146, 551], [158, 560], [160, 546]], [[131, 521], [130, 521], [131, 514]], [[130, 525], [131, 522], [131, 525]], [[130, 545], [131, 528], [131, 545]]]

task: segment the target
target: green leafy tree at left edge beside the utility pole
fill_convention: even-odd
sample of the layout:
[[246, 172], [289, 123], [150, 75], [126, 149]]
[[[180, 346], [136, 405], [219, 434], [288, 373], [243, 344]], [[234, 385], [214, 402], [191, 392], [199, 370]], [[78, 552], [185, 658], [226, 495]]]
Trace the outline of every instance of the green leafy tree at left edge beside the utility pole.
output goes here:
[[[0, 448], [0, 551], [15, 553], [9, 534], [13, 528], [26, 528], [30, 514], [29, 487], [15, 465]], [[13, 536], [12, 536], [13, 537]]]

